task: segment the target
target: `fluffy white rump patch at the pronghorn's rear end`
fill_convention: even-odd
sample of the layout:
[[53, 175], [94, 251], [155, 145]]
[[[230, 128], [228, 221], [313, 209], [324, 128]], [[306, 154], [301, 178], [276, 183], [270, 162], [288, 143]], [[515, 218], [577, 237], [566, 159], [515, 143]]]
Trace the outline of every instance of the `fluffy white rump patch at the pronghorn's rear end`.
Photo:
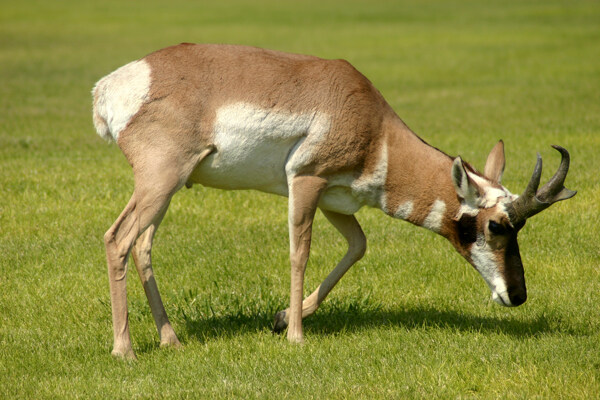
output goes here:
[[150, 92], [150, 66], [138, 60], [102, 78], [92, 91], [94, 125], [106, 140], [117, 140]]

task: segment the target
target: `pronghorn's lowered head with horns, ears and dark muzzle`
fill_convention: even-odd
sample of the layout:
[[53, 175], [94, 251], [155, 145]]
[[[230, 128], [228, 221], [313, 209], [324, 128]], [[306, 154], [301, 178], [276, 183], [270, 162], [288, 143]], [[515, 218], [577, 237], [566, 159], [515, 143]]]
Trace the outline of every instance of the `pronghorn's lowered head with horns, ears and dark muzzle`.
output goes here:
[[494, 301], [503, 306], [516, 307], [527, 300], [517, 243], [519, 231], [528, 218], [577, 193], [563, 185], [569, 170], [569, 153], [560, 146], [552, 147], [562, 157], [558, 171], [538, 189], [542, 174], [538, 153], [531, 180], [520, 196], [500, 184], [505, 165], [502, 141], [490, 152], [483, 175], [460, 157], [452, 166], [452, 182], [461, 205], [449, 239], [481, 274]]

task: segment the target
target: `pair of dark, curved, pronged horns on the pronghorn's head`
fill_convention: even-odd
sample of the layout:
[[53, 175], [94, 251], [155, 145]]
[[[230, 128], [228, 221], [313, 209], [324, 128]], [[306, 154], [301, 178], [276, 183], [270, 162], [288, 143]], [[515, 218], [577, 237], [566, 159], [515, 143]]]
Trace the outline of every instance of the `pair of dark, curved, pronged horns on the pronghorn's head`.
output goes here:
[[569, 152], [560, 146], [552, 145], [552, 147], [561, 154], [560, 166], [548, 183], [538, 190], [542, 176], [542, 157], [538, 153], [535, 169], [527, 188], [508, 209], [510, 220], [514, 225], [524, 222], [557, 201], [570, 199], [577, 193], [564, 187], [569, 172]]

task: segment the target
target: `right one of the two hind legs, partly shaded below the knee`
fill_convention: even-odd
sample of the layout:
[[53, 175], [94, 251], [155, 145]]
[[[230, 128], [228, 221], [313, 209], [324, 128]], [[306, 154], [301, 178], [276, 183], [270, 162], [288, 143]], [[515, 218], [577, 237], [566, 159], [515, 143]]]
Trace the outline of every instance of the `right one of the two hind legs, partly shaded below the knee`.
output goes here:
[[157, 222], [150, 225], [138, 238], [133, 246], [132, 255], [140, 280], [142, 281], [142, 286], [144, 287], [144, 292], [146, 292], [146, 297], [148, 298], [148, 304], [150, 304], [154, 322], [156, 323], [160, 345], [179, 347], [181, 343], [179, 343], [177, 335], [169, 322], [167, 312], [160, 298], [156, 280], [154, 279], [154, 272], [152, 271], [152, 240], [160, 224], [160, 220], [162, 220], [162, 216]]

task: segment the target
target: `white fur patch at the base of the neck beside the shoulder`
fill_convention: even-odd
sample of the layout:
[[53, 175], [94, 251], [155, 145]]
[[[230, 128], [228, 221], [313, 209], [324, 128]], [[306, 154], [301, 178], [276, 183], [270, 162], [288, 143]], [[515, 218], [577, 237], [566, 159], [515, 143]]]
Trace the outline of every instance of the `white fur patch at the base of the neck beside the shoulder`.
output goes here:
[[371, 207], [386, 210], [386, 198], [383, 190], [387, 178], [388, 149], [384, 143], [375, 170], [368, 176], [361, 176], [352, 182], [352, 194]]

